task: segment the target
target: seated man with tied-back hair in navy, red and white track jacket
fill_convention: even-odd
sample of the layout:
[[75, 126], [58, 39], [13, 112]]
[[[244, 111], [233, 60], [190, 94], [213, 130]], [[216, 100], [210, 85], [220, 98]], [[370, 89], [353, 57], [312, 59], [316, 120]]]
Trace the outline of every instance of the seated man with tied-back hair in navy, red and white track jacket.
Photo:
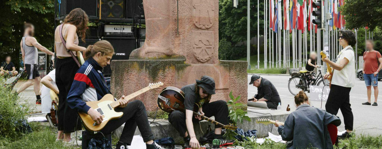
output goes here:
[[[79, 112], [89, 114], [92, 120], [100, 124], [102, 115], [93, 108], [86, 105], [85, 101], [98, 101], [103, 96], [110, 94], [106, 86], [106, 80], [100, 70], [110, 64], [114, 54], [113, 46], [106, 40], [99, 41], [87, 47], [85, 51], [86, 62], [78, 69], [73, 84], [68, 93], [68, 105]], [[147, 119], [146, 108], [142, 101], [127, 102], [125, 96], [121, 97], [120, 106], [115, 108], [116, 112], [123, 112], [119, 119], [110, 120], [100, 130], [102, 134], [110, 134], [112, 131], [125, 123], [120, 140], [116, 149], [126, 149], [131, 145], [135, 130], [138, 126], [147, 149], [163, 149], [154, 143], [154, 135]]]

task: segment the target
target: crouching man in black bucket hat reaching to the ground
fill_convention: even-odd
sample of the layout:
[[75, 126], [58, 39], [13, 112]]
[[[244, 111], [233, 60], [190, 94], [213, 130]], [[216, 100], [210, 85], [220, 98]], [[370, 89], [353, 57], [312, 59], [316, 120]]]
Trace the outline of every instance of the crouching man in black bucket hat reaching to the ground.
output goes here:
[[[228, 124], [228, 106], [224, 100], [218, 100], [209, 103], [211, 96], [215, 94], [215, 81], [209, 76], [202, 76], [196, 83], [186, 85], [180, 89], [185, 93], [186, 114], [181, 111], [173, 111], [168, 115], [168, 121], [178, 130], [179, 135], [185, 140], [185, 146], [200, 147], [197, 141], [193, 122], [198, 122], [201, 117], [195, 115], [193, 118], [193, 109], [195, 103], [200, 104], [199, 112], [202, 116], [215, 116], [217, 122], [223, 125]], [[222, 140], [222, 128], [215, 125], [214, 139]], [[234, 143], [233, 140], [222, 140], [220, 144]]]

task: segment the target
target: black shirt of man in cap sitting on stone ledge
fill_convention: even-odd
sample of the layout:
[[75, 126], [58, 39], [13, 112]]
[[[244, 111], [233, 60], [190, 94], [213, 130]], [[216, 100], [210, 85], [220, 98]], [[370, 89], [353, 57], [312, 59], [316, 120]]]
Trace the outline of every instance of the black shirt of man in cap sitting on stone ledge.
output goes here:
[[280, 95], [275, 86], [267, 79], [261, 78], [260, 87], [257, 88], [256, 99], [265, 98], [272, 103], [281, 103]]

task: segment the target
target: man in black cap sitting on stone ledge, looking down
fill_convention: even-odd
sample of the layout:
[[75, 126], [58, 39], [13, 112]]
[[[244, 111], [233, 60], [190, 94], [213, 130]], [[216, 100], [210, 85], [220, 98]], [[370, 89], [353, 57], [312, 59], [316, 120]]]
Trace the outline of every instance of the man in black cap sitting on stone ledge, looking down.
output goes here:
[[254, 74], [249, 84], [257, 87], [257, 94], [249, 101], [267, 104], [269, 109], [277, 109], [278, 103], [281, 104], [280, 95], [278, 95], [275, 86], [269, 80]]

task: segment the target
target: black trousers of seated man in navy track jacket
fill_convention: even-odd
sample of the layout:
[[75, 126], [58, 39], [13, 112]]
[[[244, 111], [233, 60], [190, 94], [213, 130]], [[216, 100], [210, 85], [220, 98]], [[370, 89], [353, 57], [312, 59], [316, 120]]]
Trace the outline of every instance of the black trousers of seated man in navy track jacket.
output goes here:
[[135, 130], [138, 126], [139, 131], [144, 142], [154, 139], [149, 120], [147, 119], [146, 107], [140, 100], [131, 101], [124, 108], [115, 108], [116, 112], [123, 112], [119, 119], [110, 120], [100, 132], [103, 134], [110, 134], [116, 130], [123, 123], [125, 127], [122, 130], [120, 137], [121, 142], [131, 145]]

